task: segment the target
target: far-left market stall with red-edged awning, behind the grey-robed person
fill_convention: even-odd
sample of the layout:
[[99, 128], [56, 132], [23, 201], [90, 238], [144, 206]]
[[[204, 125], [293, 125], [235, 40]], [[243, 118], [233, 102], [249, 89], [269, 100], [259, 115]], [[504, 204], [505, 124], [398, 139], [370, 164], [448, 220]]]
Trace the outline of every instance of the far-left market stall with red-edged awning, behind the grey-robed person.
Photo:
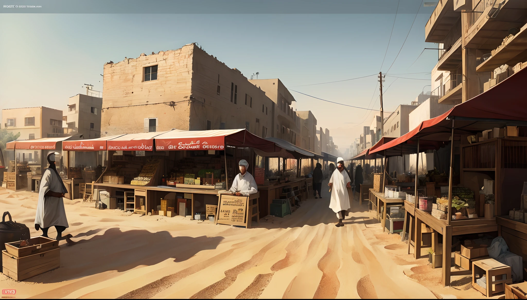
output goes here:
[[[42, 172], [47, 168], [46, 156], [50, 152], [60, 151], [64, 141], [73, 141], [82, 135], [66, 137], [47, 137], [13, 141], [6, 144], [8, 159], [7, 172], [4, 174], [6, 186], [14, 191], [28, 190], [38, 192]], [[57, 157], [57, 171], [66, 178], [66, 152]], [[71, 191], [70, 189], [68, 191]]]

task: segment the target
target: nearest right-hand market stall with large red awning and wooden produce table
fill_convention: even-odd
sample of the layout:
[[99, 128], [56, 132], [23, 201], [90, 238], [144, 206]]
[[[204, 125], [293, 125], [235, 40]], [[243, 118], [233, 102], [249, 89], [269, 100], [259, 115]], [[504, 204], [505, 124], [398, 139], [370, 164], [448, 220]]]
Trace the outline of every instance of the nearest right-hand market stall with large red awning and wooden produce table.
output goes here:
[[[444, 285], [450, 285], [453, 275], [469, 273], [466, 269], [451, 269], [452, 237], [463, 239], [470, 234], [495, 234], [498, 226], [494, 215], [501, 215], [513, 207], [520, 208], [519, 191], [527, 175], [523, 163], [527, 153], [527, 106], [524, 104], [527, 91], [522, 88], [525, 80], [527, 72], [522, 69], [485, 93], [454, 106], [441, 116], [422, 122], [413, 131], [370, 151], [389, 157], [445, 146], [450, 148], [448, 196], [416, 197], [408, 203], [414, 206], [415, 223], [411, 221], [410, 230], [415, 228], [416, 258], [421, 257], [422, 223], [434, 231], [434, 253], [438, 253], [438, 235], [443, 235], [441, 265]], [[463, 172], [459, 183], [455, 183], [461, 185], [458, 191], [454, 188], [456, 169]], [[487, 184], [494, 181], [494, 184], [485, 186], [484, 181]], [[481, 187], [484, 187], [482, 192]], [[417, 189], [418, 180], [414, 188], [416, 195]], [[461, 193], [461, 196], [455, 193]], [[410, 240], [411, 237], [409, 243]]]

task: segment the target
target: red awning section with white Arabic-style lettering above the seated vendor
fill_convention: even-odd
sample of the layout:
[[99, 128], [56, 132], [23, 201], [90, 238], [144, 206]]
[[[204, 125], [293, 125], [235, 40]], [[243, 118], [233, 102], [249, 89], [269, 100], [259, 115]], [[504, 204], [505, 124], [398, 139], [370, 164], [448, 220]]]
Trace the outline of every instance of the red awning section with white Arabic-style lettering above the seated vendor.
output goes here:
[[163, 150], [223, 150], [225, 146], [251, 147], [264, 152], [279, 152], [274, 142], [258, 137], [246, 129], [182, 131], [174, 129], [155, 139], [155, 149]]

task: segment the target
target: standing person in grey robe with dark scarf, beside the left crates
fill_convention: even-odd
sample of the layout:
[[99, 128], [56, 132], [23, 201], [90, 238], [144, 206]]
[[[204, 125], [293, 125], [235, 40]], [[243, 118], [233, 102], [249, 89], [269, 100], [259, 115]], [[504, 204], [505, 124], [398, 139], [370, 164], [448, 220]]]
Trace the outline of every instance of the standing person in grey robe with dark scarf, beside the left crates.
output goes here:
[[47, 231], [51, 226], [57, 230], [57, 241], [67, 239], [69, 244], [71, 234], [63, 237], [62, 232], [69, 227], [67, 224], [66, 211], [64, 210], [63, 197], [67, 189], [58, 175], [55, 166], [57, 152], [51, 152], [47, 155], [47, 162], [50, 166], [44, 171], [40, 182], [40, 191], [38, 192], [38, 204], [36, 206], [35, 229], [42, 229], [42, 236], [47, 237]]

